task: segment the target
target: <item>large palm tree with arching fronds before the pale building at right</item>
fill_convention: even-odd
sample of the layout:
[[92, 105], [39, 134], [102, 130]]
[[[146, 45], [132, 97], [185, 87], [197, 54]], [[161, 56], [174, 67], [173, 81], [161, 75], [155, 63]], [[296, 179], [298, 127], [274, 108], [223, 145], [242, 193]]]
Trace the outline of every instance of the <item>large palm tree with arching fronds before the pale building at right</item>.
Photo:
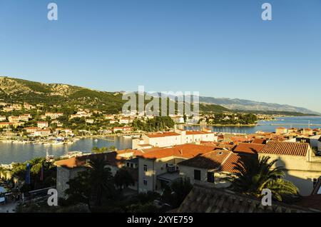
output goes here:
[[230, 173], [226, 180], [230, 181], [234, 191], [260, 198], [264, 188], [270, 189], [273, 198], [282, 201], [285, 196], [298, 194], [298, 188], [286, 181], [285, 168], [272, 168], [277, 160], [270, 161], [269, 156], [261, 158], [241, 158], [235, 163], [235, 172]]

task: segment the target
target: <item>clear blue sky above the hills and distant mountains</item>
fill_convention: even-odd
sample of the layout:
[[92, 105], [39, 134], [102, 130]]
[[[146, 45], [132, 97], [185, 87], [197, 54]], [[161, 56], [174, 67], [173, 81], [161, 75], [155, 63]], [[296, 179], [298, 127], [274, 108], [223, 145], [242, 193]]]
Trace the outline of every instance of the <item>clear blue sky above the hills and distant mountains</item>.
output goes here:
[[320, 0], [56, 0], [58, 21], [50, 2], [0, 0], [0, 75], [321, 112]]

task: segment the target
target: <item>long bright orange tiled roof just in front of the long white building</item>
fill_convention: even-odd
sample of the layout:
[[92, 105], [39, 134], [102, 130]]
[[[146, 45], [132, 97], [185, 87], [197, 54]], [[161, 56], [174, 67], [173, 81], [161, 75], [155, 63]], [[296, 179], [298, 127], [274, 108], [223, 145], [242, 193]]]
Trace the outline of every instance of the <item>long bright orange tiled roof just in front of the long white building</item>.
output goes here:
[[165, 158], [170, 156], [181, 158], [193, 158], [203, 153], [213, 151], [215, 146], [203, 146], [192, 143], [186, 143], [183, 145], [173, 146], [170, 148], [151, 148], [143, 150], [143, 154], [138, 156], [141, 158]]

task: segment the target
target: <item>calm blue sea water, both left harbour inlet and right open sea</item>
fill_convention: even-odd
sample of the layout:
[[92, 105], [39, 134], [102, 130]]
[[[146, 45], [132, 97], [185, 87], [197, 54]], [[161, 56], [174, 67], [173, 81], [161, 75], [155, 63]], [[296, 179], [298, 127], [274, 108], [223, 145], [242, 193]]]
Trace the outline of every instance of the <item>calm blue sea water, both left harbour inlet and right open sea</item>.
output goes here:
[[[308, 123], [321, 124], [321, 117], [286, 117], [277, 118], [277, 121], [260, 121], [260, 126], [213, 126], [213, 131], [230, 132], [230, 133], [255, 133], [255, 131], [275, 131], [279, 126], [271, 124], [282, 124], [286, 128], [307, 128]], [[300, 123], [302, 125], [296, 126]], [[202, 126], [185, 126], [187, 130], [200, 130]], [[321, 126], [310, 126], [310, 128], [321, 128]], [[94, 146], [115, 146], [120, 149], [131, 148], [131, 138], [123, 138], [122, 136], [110, 137], [112, 141], [98, 139], [95, 142], [92, 138], [83, 138], [76, 143], [70, 145], [44, 146], [41, 144], [31, 143], [0, 143], [0, 163], [24, 162], [36, 157], [45, 157], [46, 150], [50, 155], [55, 157], [62, 156], [68, 151], [91, 151]]]

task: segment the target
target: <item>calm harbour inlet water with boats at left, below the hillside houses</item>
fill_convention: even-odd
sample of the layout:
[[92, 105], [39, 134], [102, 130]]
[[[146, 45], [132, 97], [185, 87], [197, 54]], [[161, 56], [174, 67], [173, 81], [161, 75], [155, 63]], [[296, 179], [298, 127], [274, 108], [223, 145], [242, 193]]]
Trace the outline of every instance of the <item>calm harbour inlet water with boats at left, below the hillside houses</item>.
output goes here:
[[69, 151], [86, 151], [91, 152], [95, 146], [109, 147], [115, 146], [120, 149], [131, 148], [131, 138], [123, 138], [122, 136], [108, 137], [98, 139], [95, 141], [93, 138], [81, 138], [73, 144], [68, 145], [55, 145], [44, 146], [42, 144], [32, 143], [1, 143], [0, 142], [0, 163], [9, 164], [12, 162], [24, 162], [36, 157], [45, 157], [48, 150], [49, 155], [55, 157], [63, 156]]

